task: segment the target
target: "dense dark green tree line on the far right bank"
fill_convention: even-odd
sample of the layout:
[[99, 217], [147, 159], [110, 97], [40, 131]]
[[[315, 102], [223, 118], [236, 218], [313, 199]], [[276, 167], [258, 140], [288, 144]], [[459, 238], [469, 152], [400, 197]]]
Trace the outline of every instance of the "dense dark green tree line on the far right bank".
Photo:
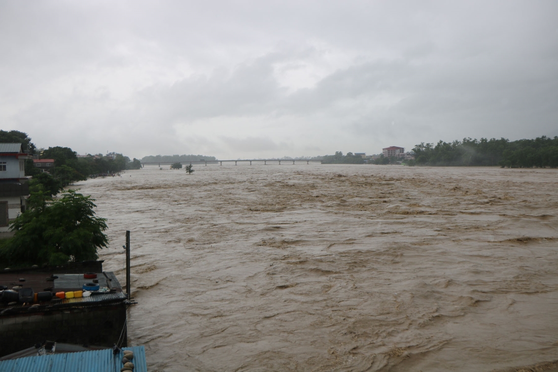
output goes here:
[[517, 141], [466, 138], [451, 143], [439, 141], [436, 145], [421, 142], [412, 151], [415, 153], [413, 163], [417, 165], [558, 167], [558, 136]]

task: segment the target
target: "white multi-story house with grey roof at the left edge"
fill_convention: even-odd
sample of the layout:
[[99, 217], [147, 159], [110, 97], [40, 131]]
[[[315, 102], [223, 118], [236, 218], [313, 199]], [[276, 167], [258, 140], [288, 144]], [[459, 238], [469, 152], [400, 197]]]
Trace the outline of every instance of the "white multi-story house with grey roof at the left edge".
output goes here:
[[21, 151], [21, 144], [0, 143], [0, 232], [23, 211], [29, 196], [25, 160], [32, 156]]

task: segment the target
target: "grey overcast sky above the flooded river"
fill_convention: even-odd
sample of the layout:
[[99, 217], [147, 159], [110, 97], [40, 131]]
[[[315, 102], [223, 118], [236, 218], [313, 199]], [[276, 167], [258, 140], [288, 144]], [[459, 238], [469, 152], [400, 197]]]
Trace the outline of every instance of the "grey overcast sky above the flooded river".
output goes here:
[[129, 158], [558, 136], [558, 2], [0, 0], [0, 128]]

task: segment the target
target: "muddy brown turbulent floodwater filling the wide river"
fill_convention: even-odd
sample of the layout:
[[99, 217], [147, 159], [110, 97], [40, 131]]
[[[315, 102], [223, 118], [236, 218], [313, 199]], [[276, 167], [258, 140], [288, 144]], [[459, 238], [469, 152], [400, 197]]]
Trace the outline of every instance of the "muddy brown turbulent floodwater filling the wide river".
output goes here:
[[[97, 199], [150, 371], [490, 371], [558, 359], [558, 173], [145, 168]], [[550, 369], [549, 367], [546, 369]], [[539, 370], [545, 370], [541, 367]]]

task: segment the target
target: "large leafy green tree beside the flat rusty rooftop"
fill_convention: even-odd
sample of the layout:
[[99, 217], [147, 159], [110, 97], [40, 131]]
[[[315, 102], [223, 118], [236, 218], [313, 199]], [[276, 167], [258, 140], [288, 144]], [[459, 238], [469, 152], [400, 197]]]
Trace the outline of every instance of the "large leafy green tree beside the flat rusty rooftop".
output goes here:
[[95, 260], [97, 249], [108, 244], [105, 218], [95, 217], [94, 199], [68, 190], [59, 200], [43, 192], [29, 198], [30, 209], [11, 229], [15, 235], [0, 249], [0, 259], [11, 266], [62, 265]]

